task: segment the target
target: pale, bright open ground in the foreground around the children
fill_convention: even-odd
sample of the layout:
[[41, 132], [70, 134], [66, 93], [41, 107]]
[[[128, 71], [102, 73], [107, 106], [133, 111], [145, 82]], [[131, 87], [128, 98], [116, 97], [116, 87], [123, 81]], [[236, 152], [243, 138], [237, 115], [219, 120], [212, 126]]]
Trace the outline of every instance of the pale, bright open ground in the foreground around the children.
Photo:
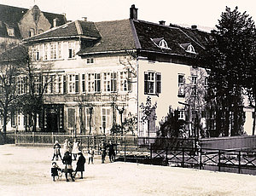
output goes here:
[[[53, 150], [0, 146], [0, 195], [256, 195], [256, 176], [131, 163], [85, 165], [85, 178], [52, 182]], [[62, 167], [61, 162], [58, 164]], [[75, 166], [73, 162], [73, 166]]]

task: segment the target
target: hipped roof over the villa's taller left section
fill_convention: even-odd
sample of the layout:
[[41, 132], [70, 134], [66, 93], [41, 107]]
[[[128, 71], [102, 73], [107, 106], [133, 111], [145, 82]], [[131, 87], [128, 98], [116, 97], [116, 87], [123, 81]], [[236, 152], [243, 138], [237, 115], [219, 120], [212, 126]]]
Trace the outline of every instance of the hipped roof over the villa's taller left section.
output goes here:
[[101, 37], [93, 22], [75, 20], [63, 26], [57, 26], [49, 31], [38, 34], [34, 37], [25, 39], [27, 42], [36, 42], [41, 40], [54, 40], [68, 37], [84, 37], [97, 39]]

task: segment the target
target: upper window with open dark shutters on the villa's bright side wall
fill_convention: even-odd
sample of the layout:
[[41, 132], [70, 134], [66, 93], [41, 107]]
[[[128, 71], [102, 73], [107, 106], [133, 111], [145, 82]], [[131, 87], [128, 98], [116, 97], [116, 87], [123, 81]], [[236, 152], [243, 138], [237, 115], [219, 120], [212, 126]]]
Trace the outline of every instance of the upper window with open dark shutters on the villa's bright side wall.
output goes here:
[[160, 72], [144, 72], [144, 93], [153, 95], [161, 93]]

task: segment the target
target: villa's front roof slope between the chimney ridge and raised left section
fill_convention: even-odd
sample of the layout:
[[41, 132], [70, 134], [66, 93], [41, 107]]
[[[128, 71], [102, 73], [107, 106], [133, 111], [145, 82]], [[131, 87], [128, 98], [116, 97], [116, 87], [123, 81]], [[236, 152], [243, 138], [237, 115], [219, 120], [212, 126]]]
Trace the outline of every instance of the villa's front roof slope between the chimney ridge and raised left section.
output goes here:
[[79, 55], [136, 49], [130, 20], [102, 21], [95, 25], [102, 38], [92, 47], [82, 49]]

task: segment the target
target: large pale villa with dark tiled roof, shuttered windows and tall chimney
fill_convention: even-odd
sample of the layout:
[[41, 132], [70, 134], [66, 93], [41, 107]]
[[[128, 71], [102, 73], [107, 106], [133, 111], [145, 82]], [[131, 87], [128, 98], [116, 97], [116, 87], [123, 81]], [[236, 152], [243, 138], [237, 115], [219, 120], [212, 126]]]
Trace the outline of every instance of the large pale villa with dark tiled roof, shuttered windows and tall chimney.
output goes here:
[[[127, 20], [75, 20], [33, 36], [26, 34], [23, 42], [33, 61], [52, 65], [50, 73], [38, 80], [49, 83], [38, 115], [40, 131], [110, 134], [113, 124], [137, 117], [135, 134], [155, 136], [170, 106], [179, 111], [179, 118], [188, 118], [185, 84], [207, 75], [195, 61], [195, 55], [205, 49], [207, 32], [196, 26], [138, 20], [134, 5]], [[22, 85], [21, 94], [26, 93]], [[11, 124], [25, 129], [28, 121], [23, 115], [16, 112], [12, 119], [9, 130]]]

